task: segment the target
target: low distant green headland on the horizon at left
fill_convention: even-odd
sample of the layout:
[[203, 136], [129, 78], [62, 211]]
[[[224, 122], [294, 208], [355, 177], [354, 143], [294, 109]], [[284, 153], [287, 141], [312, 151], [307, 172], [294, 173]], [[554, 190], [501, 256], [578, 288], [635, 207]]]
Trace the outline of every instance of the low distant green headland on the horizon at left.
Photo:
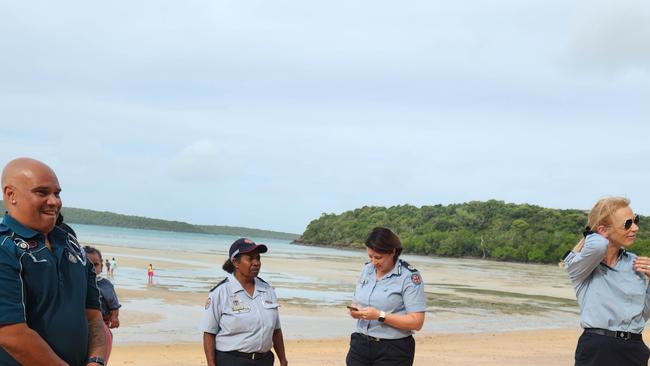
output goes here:
[[[5, 211], [3, 201], [0, 201], [0, 210], [0, 212]], [[151, 219], [148, 217], [121, 215], [112, 212], [100, 212], [82, 208], [64, 207], [62, 209], [62, 213], [65, 217], [65, 221], [73, 224], [117, 226], [133, 229], [261, 237], [283, 240], [293, 240], [298, 237], [298, 234], [283, 233], [278, 231], [251, 229], [237, 226], [192, 225], [181, 221]]]

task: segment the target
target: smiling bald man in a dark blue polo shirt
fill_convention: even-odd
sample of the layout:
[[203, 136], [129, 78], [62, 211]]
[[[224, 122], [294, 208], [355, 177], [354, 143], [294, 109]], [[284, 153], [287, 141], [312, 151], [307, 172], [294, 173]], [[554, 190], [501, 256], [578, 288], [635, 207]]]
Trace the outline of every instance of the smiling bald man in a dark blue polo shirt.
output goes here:
[[95, 271], [76, 238], [56, 226], [60, 192], [38, 160], [15, 159], [2, 171], [2, 366], [104, 366]]

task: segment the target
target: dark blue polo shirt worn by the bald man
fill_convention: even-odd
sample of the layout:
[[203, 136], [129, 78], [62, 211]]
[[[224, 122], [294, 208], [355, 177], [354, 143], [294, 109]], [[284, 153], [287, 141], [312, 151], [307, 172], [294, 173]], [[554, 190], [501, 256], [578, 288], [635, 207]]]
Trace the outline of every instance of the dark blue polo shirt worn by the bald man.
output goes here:
[[[79, 253], [69, 248], [62, 229], [55, 227], [48, 237], [51, 251], [45, 246], [45, 236], [4, 215], [0, 224], [0, 324], [27, 323], [68, 364], [86, 365], [86, 309], [99, 309], [95, 272], [90, 261], [84, 266]], [[18, 363], [0, 347], [0, 365]]]

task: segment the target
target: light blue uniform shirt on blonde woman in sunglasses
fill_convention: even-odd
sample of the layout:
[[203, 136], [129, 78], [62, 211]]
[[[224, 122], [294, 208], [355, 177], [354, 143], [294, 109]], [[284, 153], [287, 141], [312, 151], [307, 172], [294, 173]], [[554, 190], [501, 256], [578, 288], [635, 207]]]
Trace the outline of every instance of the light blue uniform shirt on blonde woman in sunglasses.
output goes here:
[[580, 326], [641, 333], [650, 316], [648, 278], [634, 271], [636, 255], [621, 250], [616, 265], [601, 263], [607, 238], [591, 234], [564, 259], [580, 304]]

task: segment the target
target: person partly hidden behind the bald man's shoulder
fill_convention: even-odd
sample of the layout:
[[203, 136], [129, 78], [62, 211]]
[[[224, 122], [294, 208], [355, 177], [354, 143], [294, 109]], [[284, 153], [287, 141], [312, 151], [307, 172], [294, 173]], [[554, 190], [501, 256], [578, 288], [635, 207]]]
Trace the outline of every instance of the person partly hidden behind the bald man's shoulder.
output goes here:
[[120, 326], [120, 308], [122, 305], [117, 299], [117, 293], [110, 280], [103, 277], [102, 274], [102, 253], [99, 249], [85, 246], [84, 251], [88, 260], [93, 264], [95, 273], [97, 274], [97, 287], [99, 288], [99, 302], [101, 305], [102, 318], [104, 319], [104, 333], [106, 335], [106, 354], [104, 356], [105, 362], [108, 364], [108, 357], [111, 355], [113, 348], [113, 332], [111, 329], [119, 328]]

